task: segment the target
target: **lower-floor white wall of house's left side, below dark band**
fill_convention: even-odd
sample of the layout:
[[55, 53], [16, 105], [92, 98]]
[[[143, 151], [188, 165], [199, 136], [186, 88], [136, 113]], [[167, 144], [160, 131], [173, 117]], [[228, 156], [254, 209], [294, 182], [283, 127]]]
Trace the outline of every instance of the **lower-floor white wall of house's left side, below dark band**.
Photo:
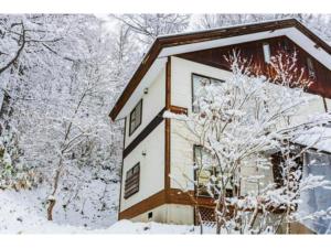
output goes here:
[[[142, 151], [146, 152], [145, 157]], [[125, 200], [126, 172], [138, 162], [140, 162], [139, 191]], [[121, 212], [164, 188], [164, 121], [125, 158], [121, 182]]]

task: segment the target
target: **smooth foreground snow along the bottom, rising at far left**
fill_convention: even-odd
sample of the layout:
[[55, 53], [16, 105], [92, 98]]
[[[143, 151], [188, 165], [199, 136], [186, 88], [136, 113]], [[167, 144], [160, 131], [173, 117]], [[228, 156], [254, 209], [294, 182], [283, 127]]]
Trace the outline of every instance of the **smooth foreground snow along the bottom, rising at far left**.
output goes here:
[[[129, 220], [109, 224], [105, 228], [71, 226], [47, 222], [45, 209], [33, 191], [0, 191], [0, 234], [199, 234], [196, 226], [164, 225], [158, 223], [131, 223]], [[116, 216], [109, 216], [109, 223]], [[114, 223], [114, 222], [113, 222]], [[205, 228], [205, 233], [214, 233]]]

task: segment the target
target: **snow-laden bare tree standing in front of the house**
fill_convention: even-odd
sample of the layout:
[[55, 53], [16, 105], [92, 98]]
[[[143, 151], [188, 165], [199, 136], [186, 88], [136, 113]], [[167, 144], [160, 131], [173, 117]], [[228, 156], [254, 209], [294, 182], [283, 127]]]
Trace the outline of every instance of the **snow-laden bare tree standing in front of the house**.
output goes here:
[[[311, 82], [298, 68], [296, 54], [273, 57], [273, 78], [256, 75], [249, 60], [235, 52], [228, 61], [232, 76], [224, 83], [201, 82], [193, 112], [164, 114], [182, 122], [188, 141], [196, 144], [196, 180], [184, 172], [180, 176], [194, 185], [196, 196], [214, 200], [217, 234], [277, 233], [280, 227], [290, 233], [290, 223], [321, 213], [298, 211], [305, 192], [331, 183], [322, 175], [303, 176], [300, 160], [325, 138], [331, 116], [302, 116], [316, 98], [306, 93]], [[314, 138], [307, 144], [307, 137]], [[273, 170], [278, 172], [275, 180]]]

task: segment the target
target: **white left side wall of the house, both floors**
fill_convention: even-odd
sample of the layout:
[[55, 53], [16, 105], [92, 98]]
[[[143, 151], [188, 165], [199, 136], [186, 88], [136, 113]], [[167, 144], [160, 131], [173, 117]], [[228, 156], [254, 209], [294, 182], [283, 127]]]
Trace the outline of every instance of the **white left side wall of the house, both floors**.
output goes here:
[[[125, 148], [146, 128], [166, 106], [166, 69], [162, 69], [142, 96], [141, 125], [129, 136], [129, 115], [126, 119]], [[138, 104], [138, 101], [137, 101]], [[136, 105], [135, 105], [136, 106]], [[142, 152], [146, 152], [146, 157]], [[127, 200], [125, 194], [126, 173], [140, 162], [139, 192]], [[121, 175], [120, 212], [164, 188], [164, 121], [148, 134], [125, 159]]]

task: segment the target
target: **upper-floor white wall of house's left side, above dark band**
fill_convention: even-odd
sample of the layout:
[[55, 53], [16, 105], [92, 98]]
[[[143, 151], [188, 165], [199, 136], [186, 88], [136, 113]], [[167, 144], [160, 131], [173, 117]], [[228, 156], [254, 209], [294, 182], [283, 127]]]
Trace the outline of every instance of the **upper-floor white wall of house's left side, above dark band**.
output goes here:
[[[140, 100], [140, 99], [139, 99]], [[139, 100], [132, 106], [135, 108]], [[127, 116], [125, 148], [146, 128], [147, 125], [166, 106], [166, 68], [157, 76], [154, 82], [148, 88], [148, 94], [142, 96], [142, 116], [141, 125], [130, 136], [130, 114]], [[131, 111], [130, 111], [131, 112]]]

